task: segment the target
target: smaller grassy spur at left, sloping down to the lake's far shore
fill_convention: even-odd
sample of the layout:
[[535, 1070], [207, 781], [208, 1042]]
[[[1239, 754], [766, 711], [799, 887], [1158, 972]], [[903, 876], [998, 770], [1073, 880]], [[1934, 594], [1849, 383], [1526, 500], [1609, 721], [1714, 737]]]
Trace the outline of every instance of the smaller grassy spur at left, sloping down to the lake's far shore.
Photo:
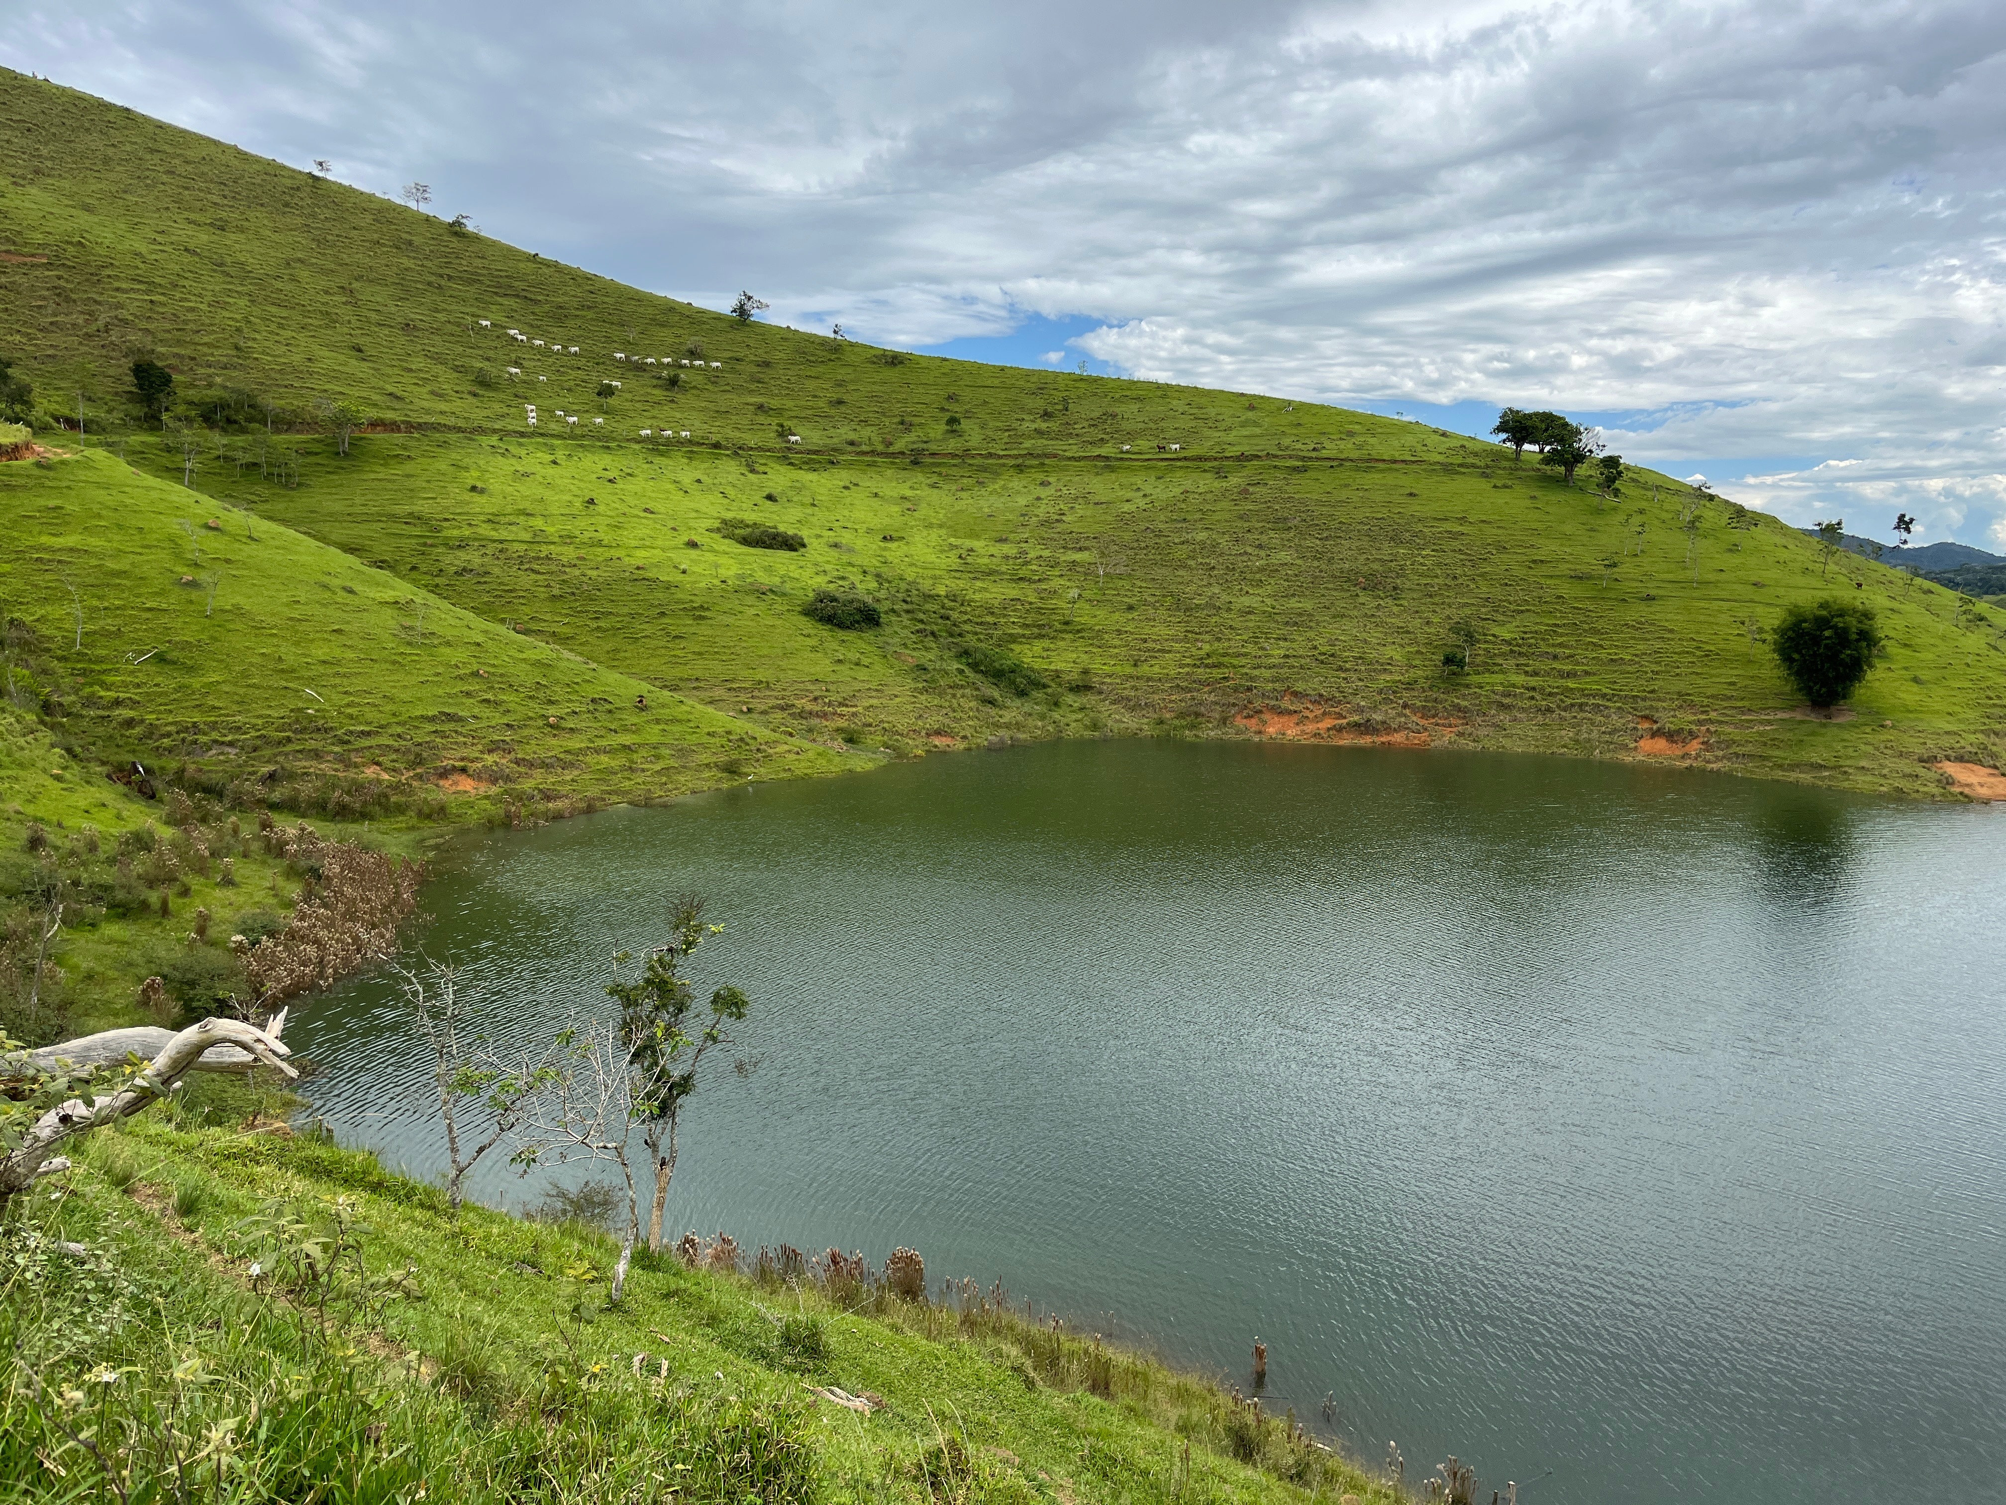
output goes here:
[[[98, 759], [337, 815], [425, 785], [642, 799], [845, 767], [104, 452], [0, 466], [10, 684]], [[646, 706], [636, 698], [646, 696]]]

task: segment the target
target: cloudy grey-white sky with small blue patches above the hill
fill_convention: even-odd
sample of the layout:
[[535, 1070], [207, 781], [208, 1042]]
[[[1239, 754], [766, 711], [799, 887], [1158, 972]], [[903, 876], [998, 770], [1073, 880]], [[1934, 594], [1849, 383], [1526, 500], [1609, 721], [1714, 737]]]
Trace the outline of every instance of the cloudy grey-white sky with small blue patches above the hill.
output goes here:
[[12, 0], [0, 62], [710, 307], [2006, 554], [2006, 4]]

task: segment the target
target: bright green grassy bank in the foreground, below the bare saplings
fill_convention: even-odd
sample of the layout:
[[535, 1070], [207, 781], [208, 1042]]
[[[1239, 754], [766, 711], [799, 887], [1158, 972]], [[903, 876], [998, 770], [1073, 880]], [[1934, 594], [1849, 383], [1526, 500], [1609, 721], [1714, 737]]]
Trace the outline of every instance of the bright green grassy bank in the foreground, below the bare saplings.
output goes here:
[[602, 1234], [453, 1222], [437, 1190], [243, 1108], [94, 1138], [4, 1230], [0, 1497], [112, 1497], [108, 1475], [233, 1501], [1398, 1497], [1001, 1292], [644, 1258], [608, 1308]]

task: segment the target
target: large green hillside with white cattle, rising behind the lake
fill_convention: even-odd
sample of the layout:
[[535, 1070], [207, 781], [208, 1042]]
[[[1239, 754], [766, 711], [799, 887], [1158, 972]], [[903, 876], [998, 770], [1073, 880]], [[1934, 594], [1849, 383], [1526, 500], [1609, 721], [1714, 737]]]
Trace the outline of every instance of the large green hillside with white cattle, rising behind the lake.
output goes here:
[[[845, 744], [1135, 730], [1679, 757], [1924, 795], [1946, 793], [1932, 763], [2002, 757], [1994, 608], [1663, 476], [1599, 498], [1414, 423], [740, 325], [18, 74], [0, 74], [0, 321], [44, 413], [68, 401], [74, 423], [64, 393], [82, 383], [92, 445], [339, 550], [377, 592], [347, 640], [299, 638], [279, 610], [261, 624], [265, 646], [317, 654], [317, 674], [369, 678], [367, 724], [307, 716], [297, 688], [283, 716], [277, 700], [247, 716], [201, 674], [140, 694], [122, 664], [64, 666], [96, 686], [86, 710], [120, 746], [255, 744], [407, 777], [463, 763], [552, 801], [736, 777], [752, 748], [808, 771], [843, 767]], [[700, 375], [680, 365], [692, 339]], [[164, 425], [124, 395], [142, 353], [177, 371]], [[678, 361], [678, 385], [614, 359], [636, 353]], [[602, 379], [624, 385], [600, 399]], [[343, 456], [315, 419], [323, 397], [395, 431]], [[72, 474], [10, 470], [16, 504]], [[52, 562], [175, 568], [171, 534], [118, 562], [124, 536], [80, 532], [86, 516], [68, 504], [32, 546], [0, 540], [8, 610], [56, 664]], [[744, 548], [728, 520], [802, 548]], [[802, 616], [832, 586], [885, 624]], [[177, 620], [199, 594], [181, 590]], [[1864, 592], [1894, 644], [1850, 720], [1807, 716], [1763, 648], [1785, 604], [1831, 592]], [[620, 680], [594, 690], [578, 676], [598, 670], [550, 648], [485, 700], [375, 674], [423, 658], [399, 636], [415, 622], [385, 610], [397, 600], [447, 602], [461, 614], [435, 620], [453, 634], [528, 632]], [[1446, 668], [1464, 640], [1466, 672]], [[471, 676], [471, 642], [427, 662]], [[714, 718], [642, 732], [622, 708], [650, 692]], [[544, 698], [576, 734], [548, 728]], [[477, 773], [489, 755], [514, 767]]]

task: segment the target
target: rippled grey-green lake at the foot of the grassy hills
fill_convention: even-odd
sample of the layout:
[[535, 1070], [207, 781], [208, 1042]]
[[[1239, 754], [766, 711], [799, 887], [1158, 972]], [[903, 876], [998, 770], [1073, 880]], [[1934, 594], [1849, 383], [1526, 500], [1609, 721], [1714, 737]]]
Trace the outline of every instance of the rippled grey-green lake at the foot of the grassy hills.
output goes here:
[[[708, 897], [760, 1066], [692, 1100], [676, 1232], [911, 1244], [1242, 1385], [1260, 1336], [1276, 1411], [1527, 1505], [1992, 1497], [2002, 847], [1681, 769], [1059, 742], [491, 835], [421, 941], [528, 1037]], [[289, 1039], [437, 1172], [383, 979]]]

